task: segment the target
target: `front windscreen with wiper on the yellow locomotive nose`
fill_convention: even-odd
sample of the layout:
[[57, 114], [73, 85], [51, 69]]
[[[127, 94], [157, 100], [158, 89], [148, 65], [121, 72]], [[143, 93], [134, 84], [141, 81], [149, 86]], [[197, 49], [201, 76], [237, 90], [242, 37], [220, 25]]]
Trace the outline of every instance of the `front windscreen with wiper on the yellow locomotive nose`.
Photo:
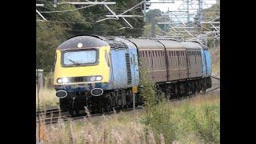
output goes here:
[[67, 50], [62, 54], [63, 66], [95, 65], [98, 61], [97, 50]]

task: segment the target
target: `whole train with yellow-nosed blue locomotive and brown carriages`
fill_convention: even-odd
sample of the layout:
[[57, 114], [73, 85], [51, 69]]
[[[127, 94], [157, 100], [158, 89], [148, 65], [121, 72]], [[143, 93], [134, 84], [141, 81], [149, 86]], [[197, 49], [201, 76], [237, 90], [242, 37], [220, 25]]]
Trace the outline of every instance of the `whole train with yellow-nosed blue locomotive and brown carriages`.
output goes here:
[[61, 110], [79, 114], [85, 106], [95, 112], [132, 106], [142, 66], [168, 98], [211, 87], [210, 52], [200, 42], [76, 36], [56, 50], [54, 88]]

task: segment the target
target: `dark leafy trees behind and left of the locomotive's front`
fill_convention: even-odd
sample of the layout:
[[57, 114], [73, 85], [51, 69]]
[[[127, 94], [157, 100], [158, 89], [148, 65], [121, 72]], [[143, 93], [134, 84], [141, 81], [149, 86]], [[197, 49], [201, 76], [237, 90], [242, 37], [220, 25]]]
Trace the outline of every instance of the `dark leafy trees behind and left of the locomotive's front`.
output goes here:
[[[116, 5], [110, 6], [110, 9], [121, 14], [130, 7], [141, 2], [140, 0], [116, 0]], [[82, 34], [98, 34], [102, 36], [126, 36], [138, 38], [142, 36], [143, 18], [126, 18], [134, 29], [121, 29], [128, 27], [126, 22], [120, 20], [106, 20], [96, 23], [98, 20], [106, 18], [106, 14], [110, 14], [109, 10], [102, 5], [90, 6], [85, 9], [74, 10], [81, 6], [73, 6], [70, 4], [58, 5], [53, 7], [52, 1], [40, 1], [45, 4], [38, 7], [38, 11], [63, 11], [55, 13], [42, 13], [48, 20], [47, 22], [37, 21], [37, 56], [38, 68], [45, 71], [54, 69], [54, 54], [58, 45], [67, 38]], [[127, 12], [126, 14], [142, 15], [141, 9]], [[40, 17], [37, 18], [40, 19]]]

